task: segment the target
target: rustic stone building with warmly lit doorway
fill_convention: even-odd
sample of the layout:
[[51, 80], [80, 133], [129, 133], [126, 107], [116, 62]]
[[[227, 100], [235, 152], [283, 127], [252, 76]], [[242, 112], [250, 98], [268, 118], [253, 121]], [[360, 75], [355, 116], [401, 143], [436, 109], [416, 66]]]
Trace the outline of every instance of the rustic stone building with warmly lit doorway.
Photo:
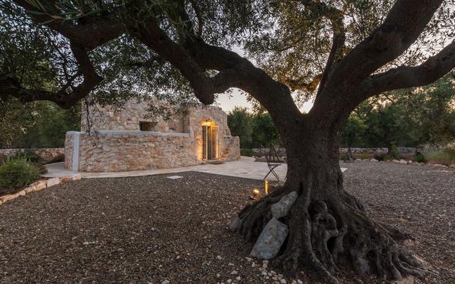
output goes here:
[[[165, 102], [158, 102], [166, 105]], [[149, 102], [91, 107], [91, 131], [82, 111], [81, 131], [65, 138], [65, 168], [87, 172], [151, 170], [238, 160], [239, 138], [219, 107], [191, 107], [169, 119], [150, 119]]]

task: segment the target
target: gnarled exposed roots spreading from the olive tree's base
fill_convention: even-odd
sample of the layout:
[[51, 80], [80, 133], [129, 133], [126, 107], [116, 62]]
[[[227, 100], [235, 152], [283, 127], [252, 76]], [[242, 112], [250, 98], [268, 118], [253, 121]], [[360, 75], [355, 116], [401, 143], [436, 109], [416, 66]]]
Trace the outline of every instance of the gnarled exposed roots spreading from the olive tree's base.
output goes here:
[[[239, 213], [237, 229], [247, 240], [255, 240], [272, 218], [270, 207], [291, 192], [282, 187]], [[290, 214], [282, 219], [289, 236], [273, 265], [289, 276], [299, 268], [323, 283], [338, 283], [333, 276], [350, 265], [360, 273], [376, 273], [382, 279], [403, 275], [424, 277], [422, 263], [397, 241], [409, 236], [395, 226], [380, 224], [363, 212], [352, 195], [330, 200], [311, 200], [310, 190], [300, 189]], [[343, 192], [344, 193], [344, 192]]]

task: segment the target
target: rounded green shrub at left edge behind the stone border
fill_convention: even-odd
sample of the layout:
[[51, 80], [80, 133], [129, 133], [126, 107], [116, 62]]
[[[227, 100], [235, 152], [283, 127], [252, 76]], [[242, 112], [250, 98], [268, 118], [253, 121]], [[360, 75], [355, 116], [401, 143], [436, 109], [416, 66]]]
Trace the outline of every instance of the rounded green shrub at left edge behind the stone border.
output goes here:
[[26, 159], [9, 160], [0, 166], [0, 193], [26, 187], [40, 178], [40, 170]]

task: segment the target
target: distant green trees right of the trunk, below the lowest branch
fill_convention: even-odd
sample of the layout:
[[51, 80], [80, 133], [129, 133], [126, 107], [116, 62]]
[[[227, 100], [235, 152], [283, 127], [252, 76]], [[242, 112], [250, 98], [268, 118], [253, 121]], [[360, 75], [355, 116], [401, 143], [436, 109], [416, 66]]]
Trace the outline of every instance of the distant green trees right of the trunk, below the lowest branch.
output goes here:
[[455, 72], [419, 89], [372, 98], [353, 111], [344, 147], [414, 147], [455, 140]]

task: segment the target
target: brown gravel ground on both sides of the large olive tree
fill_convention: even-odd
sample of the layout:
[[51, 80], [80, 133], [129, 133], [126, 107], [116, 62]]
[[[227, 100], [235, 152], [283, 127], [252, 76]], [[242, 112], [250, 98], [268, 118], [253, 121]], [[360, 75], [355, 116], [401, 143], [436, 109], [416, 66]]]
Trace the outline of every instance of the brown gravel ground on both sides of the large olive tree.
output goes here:
[[[369, 214], [416, 238], [407, 246], [434, 269], [426, 283], [455, 283], [455, 171], [343, 167]], [[0, 283], [276, 283], [279, 271], [262, 275], [264, 264], [247, 258], [252, 244], [226, 226], [262, 182], [178, 175], [79, 180], [1, 205]]]

